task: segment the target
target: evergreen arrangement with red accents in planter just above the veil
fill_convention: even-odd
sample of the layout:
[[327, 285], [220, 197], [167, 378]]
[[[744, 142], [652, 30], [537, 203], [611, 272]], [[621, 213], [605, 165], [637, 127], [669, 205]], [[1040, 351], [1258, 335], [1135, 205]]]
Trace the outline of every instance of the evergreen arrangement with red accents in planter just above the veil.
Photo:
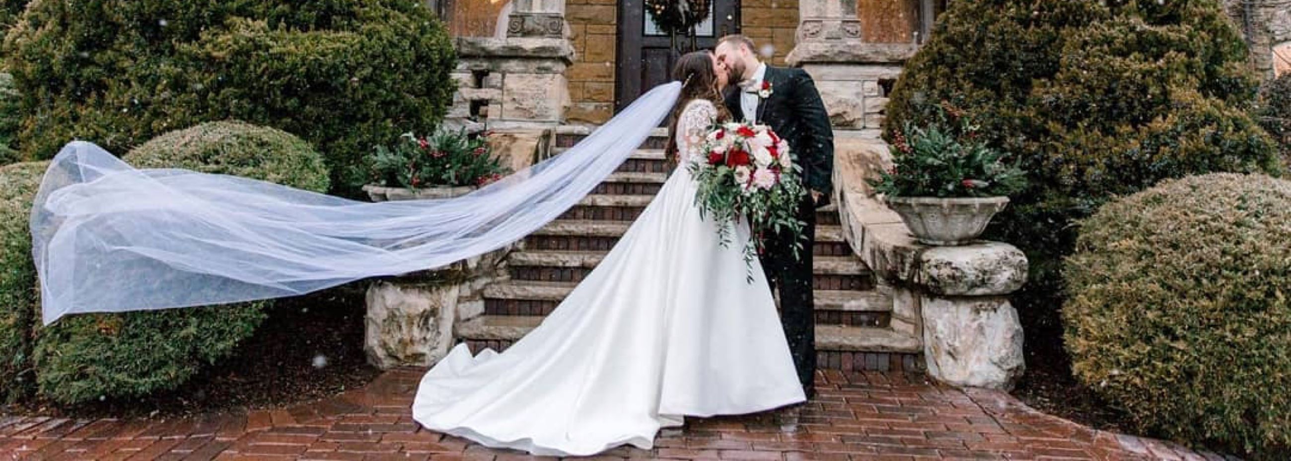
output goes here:
[[451, 198], [485, 186], [510, 173], [493, 155], [488, 132], [439, 129], [429, 137], [404, 133], [392, 146], [377, 146], [373, 200]]

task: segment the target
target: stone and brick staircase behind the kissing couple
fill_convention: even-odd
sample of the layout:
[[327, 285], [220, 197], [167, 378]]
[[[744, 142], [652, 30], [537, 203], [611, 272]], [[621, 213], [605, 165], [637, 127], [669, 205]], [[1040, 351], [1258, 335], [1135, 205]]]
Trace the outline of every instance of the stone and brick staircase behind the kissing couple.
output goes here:
[[[584, 134], [558, 133], [555, 151]], [[484, 288], [484, 314], [458, 324], [456, 336], [479, 351], [503, 350], [542, 322], [609, 252], [667, 178], [664, 133], [556, 221], [525, 238], [506, 257], [509, 280]], [[877, 287], [843, 238], [837, 210], [817, 216], [813, 288], [820, 368], [919, 371], [922, 343], [889, 328], [891, 294]]]

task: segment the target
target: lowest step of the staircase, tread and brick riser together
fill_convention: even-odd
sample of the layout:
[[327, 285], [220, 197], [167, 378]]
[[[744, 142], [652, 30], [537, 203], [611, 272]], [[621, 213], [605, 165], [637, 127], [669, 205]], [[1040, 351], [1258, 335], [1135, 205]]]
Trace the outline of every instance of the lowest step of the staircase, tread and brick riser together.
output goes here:
[[[482, 315], [457, 328], [458, 341], [476, 353], [484, 347], [502, 351], [542, 323], [541, 315]], [[923, 343], [918, 337], [889, 328], [817, 325], [817, 367], [822, 369], [917, 371]]]

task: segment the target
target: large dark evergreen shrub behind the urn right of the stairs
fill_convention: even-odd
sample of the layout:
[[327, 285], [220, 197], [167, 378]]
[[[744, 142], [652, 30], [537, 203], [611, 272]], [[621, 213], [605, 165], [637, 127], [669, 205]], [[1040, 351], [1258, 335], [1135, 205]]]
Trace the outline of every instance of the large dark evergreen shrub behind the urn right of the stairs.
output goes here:
[[1078, 220], [1164, 178], [1279, 170], [1247, 112], [1256, 85], [1215, 0], [953, 1], [897, 80], [884, 134], [946, 103], [1020, 161], [1029, 186], [986, 238], [1026, 252], [1015, 303], [1029, 350], [1057, 353], [1044, 338], [1060, 337]]

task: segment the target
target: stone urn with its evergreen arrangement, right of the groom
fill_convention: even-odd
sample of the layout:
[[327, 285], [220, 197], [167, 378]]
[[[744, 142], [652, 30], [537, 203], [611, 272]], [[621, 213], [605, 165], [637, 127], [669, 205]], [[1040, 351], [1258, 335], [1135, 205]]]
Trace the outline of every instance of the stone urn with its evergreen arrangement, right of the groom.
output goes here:
[[893, 132], [892, 163], [870, 181], [910, 232], [926, 244], [971, 241], [1004, 209], [1026, 179], [1004, 152], [982, 142], [963, 112], [941, 103], [927, 127], [908, 123]]

